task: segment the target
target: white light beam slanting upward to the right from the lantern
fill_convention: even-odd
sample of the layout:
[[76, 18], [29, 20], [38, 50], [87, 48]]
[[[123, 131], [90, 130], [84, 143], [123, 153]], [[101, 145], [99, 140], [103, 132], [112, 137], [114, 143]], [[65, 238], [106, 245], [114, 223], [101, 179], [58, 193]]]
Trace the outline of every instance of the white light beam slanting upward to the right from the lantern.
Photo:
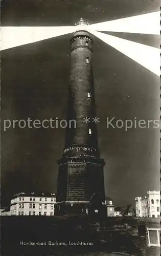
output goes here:
[[160, 35], [160, 12], [89, 25], [93, 30]]

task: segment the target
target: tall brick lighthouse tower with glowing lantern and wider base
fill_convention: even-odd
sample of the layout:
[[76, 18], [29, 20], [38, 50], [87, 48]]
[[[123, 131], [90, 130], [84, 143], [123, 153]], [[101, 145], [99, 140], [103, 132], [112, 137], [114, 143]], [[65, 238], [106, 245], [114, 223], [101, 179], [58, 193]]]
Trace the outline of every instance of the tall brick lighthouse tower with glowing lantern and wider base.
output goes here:
[[[105, 214], [104, 160], [100, 158], [88, 23], [75, 24], [71, 39], [67, 128], [58, 160], [56, 215]], [[70, 120], [76, 120], [76, 125]]]

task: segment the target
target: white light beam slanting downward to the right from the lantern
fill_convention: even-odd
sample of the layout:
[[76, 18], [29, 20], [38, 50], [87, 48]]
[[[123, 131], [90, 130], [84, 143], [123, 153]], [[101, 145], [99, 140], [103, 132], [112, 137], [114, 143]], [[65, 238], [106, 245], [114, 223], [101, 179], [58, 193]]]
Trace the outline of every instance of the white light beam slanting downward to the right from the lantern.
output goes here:
[[106, 42], [106, 44], [117, 49], [119, 52], [122, 52], [154, 74], [158, 76], [160, 75], [159, 49], [97, 31], [90, 30], [90, 33], [94, 34], [102, 41]]

